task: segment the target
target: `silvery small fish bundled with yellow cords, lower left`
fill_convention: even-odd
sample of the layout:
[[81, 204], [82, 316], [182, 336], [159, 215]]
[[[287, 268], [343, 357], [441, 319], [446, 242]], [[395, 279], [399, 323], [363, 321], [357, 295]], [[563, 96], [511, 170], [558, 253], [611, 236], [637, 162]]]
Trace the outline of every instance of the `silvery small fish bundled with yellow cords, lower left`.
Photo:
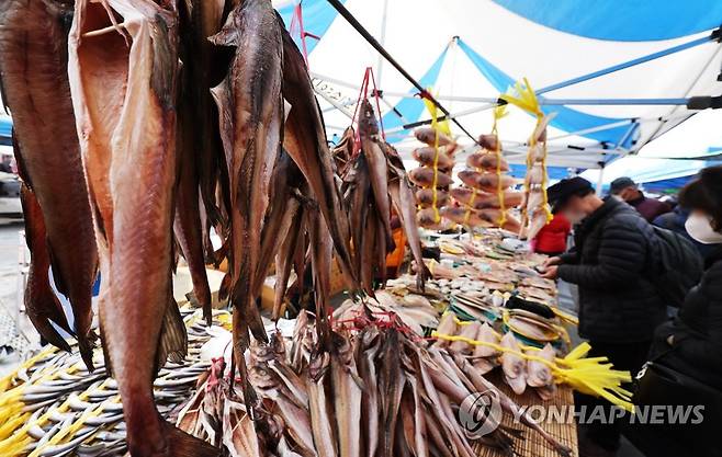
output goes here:
[[[229, 322], [227, 313], [217, 315]], [[174, 420], [210, 362], [201, 347], [211, 333], [195, 316], [187, 319], [189, 354], [158, 373], [153, 395], [158, 412]], [[117, 382], [100, 350], [89, 372], [78, 354], [47, 349], [0, 381], [0, 449], [3, 456], [121, 456], [127, 450]]]

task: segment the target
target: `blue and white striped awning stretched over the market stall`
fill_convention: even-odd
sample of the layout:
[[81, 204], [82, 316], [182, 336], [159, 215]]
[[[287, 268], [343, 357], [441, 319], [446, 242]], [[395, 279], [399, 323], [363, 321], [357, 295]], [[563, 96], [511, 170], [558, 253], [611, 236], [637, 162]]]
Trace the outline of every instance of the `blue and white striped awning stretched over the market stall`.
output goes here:
[[[286, 24], [296, 1], [274, 1]], [[639, 151], [692, 114], [684, 101], [722, 94], [722, 47], [710, 39], [722, 2], [628, 0], [346, 0], [351, 13], [474, 135], [492, 126], [489, 102], [528, 78], [557, 115], [550, 164], [598, 168]], [[303, 0], [309, 69], [329, 137], [349, 125], [358, 85], [374, 68], [388, 139], [415, 141], [404, 125], [427, 119], [417, 91], [330, 7]], [[456, 37], [456, 39], [454, 39]], [[542, 93], [543, 92], [543, 93]], [[511, 107], [499, 134], [522, 163], [533, 118]], [[453, 127], [452, 127], [453, 129]], [[460, 134], [460, 132], [454, 132]], [[460, 142], [471, 140], [460, 137]], [[712, 146], [712, 145], [709, 145]]]

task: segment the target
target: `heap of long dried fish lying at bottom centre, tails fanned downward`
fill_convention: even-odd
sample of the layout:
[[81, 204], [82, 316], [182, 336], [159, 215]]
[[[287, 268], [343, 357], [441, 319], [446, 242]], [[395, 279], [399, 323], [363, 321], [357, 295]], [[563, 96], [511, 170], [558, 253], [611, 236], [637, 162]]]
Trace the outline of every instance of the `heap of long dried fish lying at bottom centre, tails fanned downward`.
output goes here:
[[454, 412], [469, 396], [492, 390], [504, 413], [519, 414], [552, 449], [571, 455], [466, 357], [428, 346], [393, 313], [354, 305], [356, 324], [319, 334], [304, 312], [292, 342], [275, 334], [270, 345], [251, 347], [257, 407], [235, 400], [237, 387], [218, 363], [178, 425], [230, 456], [472, 457], [480, 444], [512, 456], [521, 431], [500, 426], [474, 441]]

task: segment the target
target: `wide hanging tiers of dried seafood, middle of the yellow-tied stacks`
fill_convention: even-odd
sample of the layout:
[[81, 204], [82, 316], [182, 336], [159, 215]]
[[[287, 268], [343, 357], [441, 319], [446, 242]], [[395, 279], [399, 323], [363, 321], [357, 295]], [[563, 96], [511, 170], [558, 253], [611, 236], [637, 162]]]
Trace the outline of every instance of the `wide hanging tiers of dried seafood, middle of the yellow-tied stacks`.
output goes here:
[[510, 191], [514, 179], [506, 174], [509, 164], [501, 156], [501, 144], [494, 134], [482, 135], [483, 149], [466, 158], [466, 170], [459, 179], [466, 186], [454, 187], [451, 196], [459, 206], [450, 207], [444, 216], [469, 227], [501, 227], [518, 232], [519, 221], [508, 208], [519, 206], [522, 194]]

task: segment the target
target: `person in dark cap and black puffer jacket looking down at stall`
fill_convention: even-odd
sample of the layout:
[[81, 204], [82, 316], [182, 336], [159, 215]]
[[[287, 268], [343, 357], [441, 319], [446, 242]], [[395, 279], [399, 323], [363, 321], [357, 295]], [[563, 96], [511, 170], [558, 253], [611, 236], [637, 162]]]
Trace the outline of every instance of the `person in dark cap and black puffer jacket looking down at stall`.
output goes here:
[[[589, 356], [607, 356], [616, 369], [636, 373], [650, 351], [654, 329], [666, 307], [645, 273], [654, 259], [652, 226], [631, 206], [608, 196], [599, 198], [582, 178], [548, 188], [554, 214], [575, 228], [575, 250], [546, 261], [542, 276], [576, 284], [579, 289], [579, 335], [589, 340]], [[605, 400], [576, 397], [589, 408], [611, 405]], [[607, 411], [609, 416], [609, 411]], [[579, 426], [579, 455], [613, 456], [621, 423]]]

